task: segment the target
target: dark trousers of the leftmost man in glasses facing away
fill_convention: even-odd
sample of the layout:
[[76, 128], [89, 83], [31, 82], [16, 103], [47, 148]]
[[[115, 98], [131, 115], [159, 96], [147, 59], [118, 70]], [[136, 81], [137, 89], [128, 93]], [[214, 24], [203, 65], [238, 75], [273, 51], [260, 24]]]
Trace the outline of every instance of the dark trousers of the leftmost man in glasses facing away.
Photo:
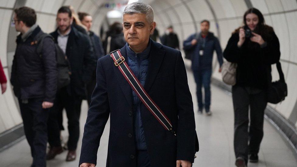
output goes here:
[[31, 148], [34, 167], [46, 166], [47, 146], [47, 118], [49, 109], [42, 108], [43, 99], [28, 99], [28, 103], [22, 103], [19, 99], [25, 135]]

